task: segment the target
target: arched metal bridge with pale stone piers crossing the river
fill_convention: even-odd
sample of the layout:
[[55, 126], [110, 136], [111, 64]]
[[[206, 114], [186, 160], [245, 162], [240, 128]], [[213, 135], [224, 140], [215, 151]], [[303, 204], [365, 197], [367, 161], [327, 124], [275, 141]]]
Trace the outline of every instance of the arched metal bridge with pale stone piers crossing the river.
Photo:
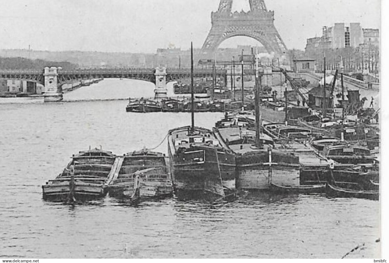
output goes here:
[[[270, 70], [269, 70], [270, 69]], [[263, 83], [269, 84], [266, 81], [275, 72], [280, 72], [279, 68], [268, 67], [265, 70]], [[195, 78], [211, 78], [213, 76], [223, 79], [227, 83], [232, 79], [240, 77], [240, 67], [237, 65], [235, 70], [231, 68], [212, 69], [212, 68], [195, 68], [193, 76]], [[245, 75], [254, 75], [255, 71], [252, 69], [244, 69]], [[96, 68], [96, 69], [77, 69], [77, 70], [63, 70], [60, 67], [45, 67], [43, 70], [3, 70], [0, 71], [0, 78], [5, 79], [20, 79], [40, 83], [44, 85], [44, 100], [45, 102], [61, 101], [62, 85], [76, 81], [87, 79], [101, 79], [101, 78], [127, 78], [137, 79], [142, 81], [149, 81], [155, 84], [155, 98], [166, 98], [166, 83], [171, 81], [178, 81], [180, 79], [188, 79], [191, 77], [190, 68]], [[314, 76], [318, 78], [318, 76]], [[354, 83], [353, 79], [346, 79], [350, 85], [355, 88], [365, 88], [361, 83]]]

